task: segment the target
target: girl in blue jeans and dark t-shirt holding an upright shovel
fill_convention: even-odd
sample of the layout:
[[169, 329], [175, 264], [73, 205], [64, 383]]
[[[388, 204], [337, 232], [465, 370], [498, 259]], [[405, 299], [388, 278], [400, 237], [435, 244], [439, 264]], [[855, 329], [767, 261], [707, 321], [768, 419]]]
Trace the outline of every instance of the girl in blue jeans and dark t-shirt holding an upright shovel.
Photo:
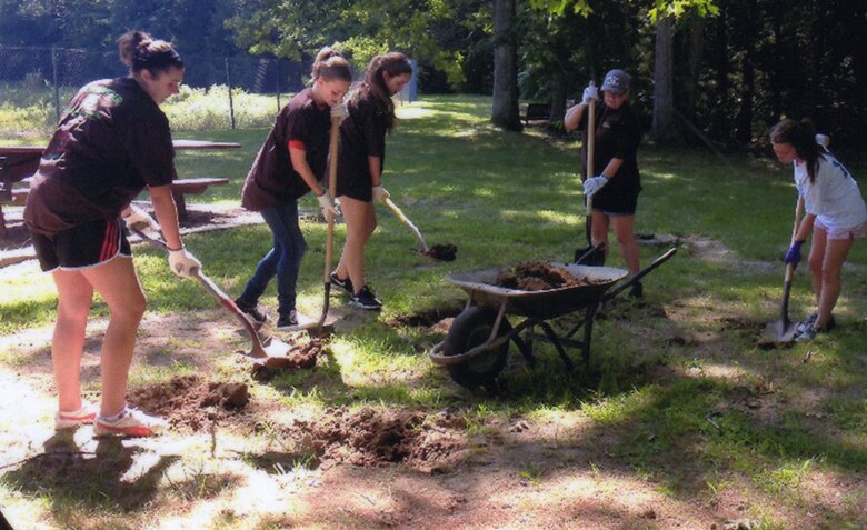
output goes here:
[[277, 328], [298, 324], [296, 283], [307, 243], [298, 224], [298, 199], [313, 191], [325, 216], [336, 216], [335, 202], [321, 184], [328, 163], [330, 108], [342, 100], [352, 81], [349, 63], [330, 48], [313, 62], [312, 87], [280, 110], [243, 183], [241, 203], [261, 213], [273, 233], [273, 247], [259, 261], [235, 303], [256, 322], [267, 317], [259, 298], [277, 277]]

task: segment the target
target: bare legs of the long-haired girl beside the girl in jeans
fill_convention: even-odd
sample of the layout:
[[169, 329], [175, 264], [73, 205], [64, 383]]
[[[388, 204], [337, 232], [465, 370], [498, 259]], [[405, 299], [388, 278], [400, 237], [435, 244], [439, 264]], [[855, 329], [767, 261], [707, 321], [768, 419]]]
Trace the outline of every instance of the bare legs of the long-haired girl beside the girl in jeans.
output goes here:
[[365, 287], [365, 246], [377, 228], [372, 202], [340, 197], [340, 210], [346, 220], [343, 254], [337, 266], [338, 278], [349, 278], [358, 291]]

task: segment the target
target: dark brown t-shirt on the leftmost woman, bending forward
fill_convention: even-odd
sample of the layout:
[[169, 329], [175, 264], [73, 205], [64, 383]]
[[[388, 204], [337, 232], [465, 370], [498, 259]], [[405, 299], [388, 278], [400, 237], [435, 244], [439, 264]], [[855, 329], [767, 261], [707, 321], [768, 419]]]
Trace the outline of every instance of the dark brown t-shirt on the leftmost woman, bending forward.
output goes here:
[[117, 217], [146, 186], [177, 177], [169, 120], [132, 78], [84, 86], [42, 153], [24, 208], [31, 231], [52, 236]]

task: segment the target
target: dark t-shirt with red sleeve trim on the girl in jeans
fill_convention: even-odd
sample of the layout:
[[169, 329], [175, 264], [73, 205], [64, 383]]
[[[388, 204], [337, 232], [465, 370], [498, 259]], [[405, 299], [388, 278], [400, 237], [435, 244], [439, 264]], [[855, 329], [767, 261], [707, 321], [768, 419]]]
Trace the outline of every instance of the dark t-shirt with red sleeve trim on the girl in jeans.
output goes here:
[[310, 191], [292, 168], [290, 146], [305, 150], [307, 163], [322, 181], [328, 163], [330, 117], [330, 108], [316, 104], [309, 88], [286, 103], [247, 174], [241, 192], [245, 208], [261, 211], [297, 200]]

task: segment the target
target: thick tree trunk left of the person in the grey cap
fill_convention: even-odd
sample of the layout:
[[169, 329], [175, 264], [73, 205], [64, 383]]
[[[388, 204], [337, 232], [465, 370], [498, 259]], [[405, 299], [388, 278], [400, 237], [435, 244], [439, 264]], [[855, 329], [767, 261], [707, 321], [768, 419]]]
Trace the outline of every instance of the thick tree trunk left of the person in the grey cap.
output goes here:
[[494, 0], [494, 102], [490, 120], [508, 131], [520, 131], [518, 53], [511, 23], [516, 0]]

